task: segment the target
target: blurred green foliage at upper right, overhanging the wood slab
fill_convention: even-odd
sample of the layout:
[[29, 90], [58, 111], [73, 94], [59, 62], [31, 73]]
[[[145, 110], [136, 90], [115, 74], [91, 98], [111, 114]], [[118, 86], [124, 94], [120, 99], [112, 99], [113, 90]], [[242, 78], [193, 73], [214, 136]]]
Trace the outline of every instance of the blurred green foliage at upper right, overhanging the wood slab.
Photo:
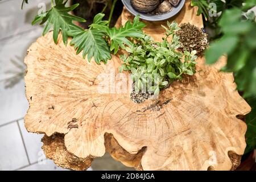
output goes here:
[[[210, 48], [205, 53], [208, 64], [214, 63], [220, 55], [228, 55], [227, 64], [222, 71], [234, 73], [234, 81], [237, 89], [243, 93], [244, 98], [256, 96], [256, 23], [255, 19], [241, 19], [241, 10], [233, 7], [241, 7], [241, 0], [226, 1], [227, 7], [218, 22], [220, 35], [222, 38], [210, 44]], [[255, 5], [255, 1], [250, 2]], [[253, 4], [254, 3], [254, 4]], [[246, 3], [245, 3], [246, 4]], [[243, 4], [244, 5], [244, 4]], [[247, 16], [248, 14], [246, 14]], [[254, 18], [253, 14], [249, 14]]]

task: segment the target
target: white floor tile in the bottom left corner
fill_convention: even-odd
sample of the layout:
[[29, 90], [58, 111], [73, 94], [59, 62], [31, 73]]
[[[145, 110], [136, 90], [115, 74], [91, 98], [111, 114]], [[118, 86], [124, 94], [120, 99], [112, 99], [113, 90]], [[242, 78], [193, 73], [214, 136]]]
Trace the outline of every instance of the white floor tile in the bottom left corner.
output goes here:
[[0, 171], [28, 165], [17, 122], [0, 127]]

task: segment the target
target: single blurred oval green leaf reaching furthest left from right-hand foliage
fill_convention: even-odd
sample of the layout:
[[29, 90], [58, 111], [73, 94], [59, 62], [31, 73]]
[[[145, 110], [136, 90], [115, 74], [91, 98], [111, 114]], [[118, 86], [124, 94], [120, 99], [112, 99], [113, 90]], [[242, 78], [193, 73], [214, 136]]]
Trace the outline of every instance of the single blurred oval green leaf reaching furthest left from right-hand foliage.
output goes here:
[[209, 49], [205, 52], [205, 59], [207, 64], [215, 63], [224, 53], [232, 52], [238, 44], [236, 36], [225, 35], [217, 42], [210, 44]]

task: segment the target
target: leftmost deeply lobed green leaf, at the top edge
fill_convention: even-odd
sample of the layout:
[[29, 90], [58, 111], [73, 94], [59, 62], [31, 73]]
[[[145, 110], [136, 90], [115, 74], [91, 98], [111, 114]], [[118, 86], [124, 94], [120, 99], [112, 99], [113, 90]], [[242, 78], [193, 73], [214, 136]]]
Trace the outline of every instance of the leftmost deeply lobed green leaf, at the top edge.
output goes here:
[[59, 31], [61, 30], [63, 36], [63, 43], [66, 45], [68, 42], [68, 30], [82, 30], [81, 27], [73, 24], [73, 21], [85, 22], [84, 19], [68, 14], [69, 11], [76, 9], [79, 4], [65, 7], [67, 1], [55, 1], [56, 6], [52, 6], [51, 10], [46, 11], [42, 15], [37, 15], [32, 24], [42, 21], [40, 24], [46, 23], [43, 35], [45, 35], [53, 27], [53, 40], [57, 43]]

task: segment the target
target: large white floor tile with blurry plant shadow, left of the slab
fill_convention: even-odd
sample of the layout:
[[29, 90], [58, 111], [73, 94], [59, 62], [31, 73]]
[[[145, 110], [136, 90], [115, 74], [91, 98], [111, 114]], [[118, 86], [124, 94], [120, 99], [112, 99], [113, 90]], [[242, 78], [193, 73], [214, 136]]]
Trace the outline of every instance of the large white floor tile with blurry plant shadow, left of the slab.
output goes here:
[[41, 33], [42, 29], [37, 28], [0, 42], [0, 125], [23, 118], [27, 112], [23, 60], [27, 48]]

